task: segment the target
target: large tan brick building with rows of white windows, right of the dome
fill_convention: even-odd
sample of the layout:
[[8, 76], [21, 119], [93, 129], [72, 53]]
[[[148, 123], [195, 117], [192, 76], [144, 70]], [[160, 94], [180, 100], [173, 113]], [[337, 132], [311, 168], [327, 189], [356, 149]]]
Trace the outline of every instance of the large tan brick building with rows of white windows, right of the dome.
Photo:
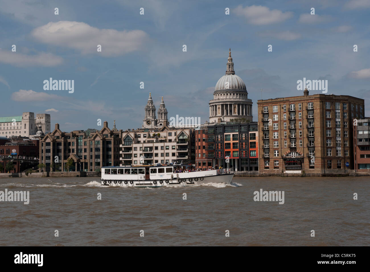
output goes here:
[[260, 173], [330, 174], [354, 169], [353, 119], [363, 118], [363, 99], [309, 95], [305, 90], [302, 96], [257, 104]]

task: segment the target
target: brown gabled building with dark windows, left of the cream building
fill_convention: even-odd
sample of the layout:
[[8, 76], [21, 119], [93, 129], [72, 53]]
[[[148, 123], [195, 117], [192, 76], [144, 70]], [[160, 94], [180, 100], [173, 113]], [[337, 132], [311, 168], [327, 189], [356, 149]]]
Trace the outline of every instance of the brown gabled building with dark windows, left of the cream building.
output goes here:
[[[46, 171], [67, 171], [65, 163], [69, 158], [74, 161], [72, 171], [100, 171], [103, 166], [119, 166], [119, 148], [122, 130], [103, 128], [63, 132], [55, 124], [53, 132], [40, 140], [40, 163]], [[55, 159], [57, 158], [57, 161]]]

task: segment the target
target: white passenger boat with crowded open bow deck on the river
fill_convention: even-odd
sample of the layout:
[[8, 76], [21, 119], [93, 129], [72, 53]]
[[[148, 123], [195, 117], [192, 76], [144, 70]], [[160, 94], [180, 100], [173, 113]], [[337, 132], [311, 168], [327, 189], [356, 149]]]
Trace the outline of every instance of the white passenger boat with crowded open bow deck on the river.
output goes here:
[[206, 183], [228, 183], [234, 176], [232, 168], [174, 173], [191, 165], [138, 165], [102, 167], [101, 184], [120, 187], [191, 186]]

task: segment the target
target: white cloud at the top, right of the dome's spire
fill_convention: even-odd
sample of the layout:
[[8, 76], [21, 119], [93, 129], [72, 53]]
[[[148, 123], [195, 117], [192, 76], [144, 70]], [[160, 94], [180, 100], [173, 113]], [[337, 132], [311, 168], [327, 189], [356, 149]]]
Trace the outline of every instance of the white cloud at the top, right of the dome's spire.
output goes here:
[[292, 17], [290, 11], [270, 10], [268, 7], [255, 5], [244, 8], [239, 5], [234, 12], [238, 16], [244, 16], [248, 23], [257, 25], [280, 23]]

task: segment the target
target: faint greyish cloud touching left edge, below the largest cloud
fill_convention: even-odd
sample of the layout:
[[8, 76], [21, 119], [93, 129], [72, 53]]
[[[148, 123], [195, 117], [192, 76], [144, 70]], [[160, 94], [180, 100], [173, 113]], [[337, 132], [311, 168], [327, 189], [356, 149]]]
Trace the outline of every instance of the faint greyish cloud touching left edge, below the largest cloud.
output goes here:
[[26, 55], [10, 50], [0, 50], [0, 62], [11, 64], [18, 67], [44, 66], [51, 67], [63, 63], [63, 58], [54, 56], [51, 53], [38, 53], [36, 55]]

